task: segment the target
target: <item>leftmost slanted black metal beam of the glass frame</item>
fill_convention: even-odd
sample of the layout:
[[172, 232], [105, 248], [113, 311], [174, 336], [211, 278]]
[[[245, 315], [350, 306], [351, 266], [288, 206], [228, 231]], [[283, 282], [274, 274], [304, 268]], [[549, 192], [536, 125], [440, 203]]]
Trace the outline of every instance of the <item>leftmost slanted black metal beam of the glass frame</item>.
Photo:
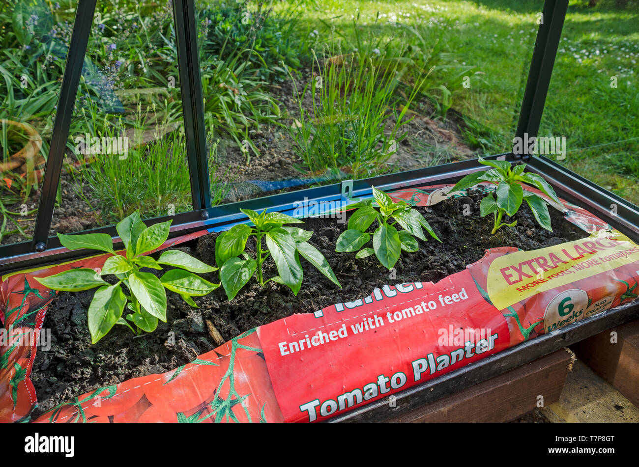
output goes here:
[[58, 193], [62, 163], [65, 158], [66, 140], [71, 128], [73, 108], [82, 76], [82, 66], [84, 65], [86, 46], [89, 42], [89, 33], [91, 33], [91, 24], [93, 24], [95, 4], [96, 0], [79, 0], [75, 10], [73, 32], [66, 55], [65, 73], [62, 77], [56, 119], [53, 122], [49, 156], [45, 164], [38, 214], [31, 242], [31, 249], [36, 251], [44, 251], [47, 248], [56, 193]]

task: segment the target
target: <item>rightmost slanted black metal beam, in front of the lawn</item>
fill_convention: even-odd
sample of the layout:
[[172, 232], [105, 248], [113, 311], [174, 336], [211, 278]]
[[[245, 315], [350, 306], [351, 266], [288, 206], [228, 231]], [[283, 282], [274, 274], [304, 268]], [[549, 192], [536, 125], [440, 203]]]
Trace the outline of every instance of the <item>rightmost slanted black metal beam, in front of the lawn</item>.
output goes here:
[[[522, 140], [524, 135], [537, 137], [537, 133], [539, 133], [539, 124], [541, 124], [541, 116], [544, 113], [544, 104], [567, 9], [568, 0], [546, 0], [544, 2], [541, 24], [539, 24], [535, 48], [532, 52], [530, 71], [528, 71], [528, 80], [515, 133], [515, 136]], [[523, 156], [514, 154], [514, 156], [523, 161], [530, 159], [530, 154]]]

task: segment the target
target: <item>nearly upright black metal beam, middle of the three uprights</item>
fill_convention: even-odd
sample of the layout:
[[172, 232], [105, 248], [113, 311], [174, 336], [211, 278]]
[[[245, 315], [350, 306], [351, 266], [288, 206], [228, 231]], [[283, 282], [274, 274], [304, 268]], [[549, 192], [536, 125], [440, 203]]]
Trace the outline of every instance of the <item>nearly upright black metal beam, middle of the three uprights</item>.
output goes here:
[[178, 49], [180, 91], [187, 138], [187, 158], [193, 209], [211, 207], [211, 186], [208, 176], [206, 124], [202, 78], [197, 47], [197, 21], [194, 0], [173, 0], [175, 39]]

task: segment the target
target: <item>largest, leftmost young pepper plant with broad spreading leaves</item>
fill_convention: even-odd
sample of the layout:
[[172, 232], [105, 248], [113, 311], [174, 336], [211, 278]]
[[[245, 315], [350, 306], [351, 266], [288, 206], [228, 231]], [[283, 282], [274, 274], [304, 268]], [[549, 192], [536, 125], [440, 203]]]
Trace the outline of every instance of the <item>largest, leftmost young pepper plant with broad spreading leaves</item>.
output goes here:
[[[217, 271], [196, 258], [178, 250], [164, 251], [154, 260], [144, 253], [159, 248], [169, 236], [171, 221], [147, 227], [142, 223], [139, 212], [123, 219], [116, 225], [120, 239], [126, 248], [125, 255], [118, 255], [113, 249], [111, 236], [107, 233], [88, 233], [84, 235], [62, 235], [58, 233], [60, 243], [68, 249], [90, 248], [112, 253], [101, 269], [78, 268], [60, 272], [46, 278], [36, 278], [42, 285], [52, 290], [79, 292], [100, 287], [93, 295], [89, 305], [88, 323], [91, 342], [106, 336], [113, 325], [127, 326], [135, 334], [153, 332], [158, 320], [166, 322], [166, 292], [164, 288], [179, 293], [190, 306], [197, 307], [191, 297], [206, 295], [218, 288], [194, 272]], [[158, 278], [150, 272], [140, 271], [143, 267], [162, 269], [160, 264], [174, 266]], [[113, 274], [118, 282], [111, 285], [101, 276]], [[128, 295], [121, 287], [128, 288]], [[132, 313], [122, 317], [125, 305]]]

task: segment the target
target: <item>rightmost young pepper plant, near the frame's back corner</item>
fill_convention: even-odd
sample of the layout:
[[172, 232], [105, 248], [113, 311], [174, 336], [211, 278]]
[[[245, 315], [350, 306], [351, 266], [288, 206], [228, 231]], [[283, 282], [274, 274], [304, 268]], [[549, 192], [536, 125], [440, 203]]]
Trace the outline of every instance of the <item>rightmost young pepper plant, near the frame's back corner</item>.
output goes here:
[[482, 217], [488, 216], [488, 214], [495, 216], [495, 224], [493, 225], [491, 233], [494, 234], [504, 225], [509, 227], [517, 225], [517, 221], [512, 221], [507, 224], [502, 222], [502, 218], [504, 214], [514, 216], [519, 210], [523, 200], [526, 200], [528, 206], [530, 206], [530, 211], [532, 211], [533, 216], [535, 216], [537, 223], [546, 230], [550, 230], [550, 232], [553, 231], [550, 225], [550, 214], [548, 214], [548, 203], [546, 200], [531, 191], [526, 191], [521, 184], [518, 183], [523, 182], [532, 185], [550, 196], [551, 200], [557, 204], [562, 204], [555, 194], [555, 190], [548, 182], [537, 174], [524, 173], [524, 169], [526, 168], [525, 164], [511, 167], [511, 163], [507, 161], [487, 161], [481, 157], [479, 157], [478, 160], [480, 164], [493, 168], [486, 172], [480, 171], [466, 175], [466, 177], [457, 182], [450, 190], [450, 193], [459, 191], [460, 189], [471, 188], [482, 182], [496, 183], [497, 189], [495, 190], [495, 195], [497, 196], [497, 200], [495, 200], [493, 193], [489, 193], [481, 200], [481, 204], [479, 205], [479, 213]]

